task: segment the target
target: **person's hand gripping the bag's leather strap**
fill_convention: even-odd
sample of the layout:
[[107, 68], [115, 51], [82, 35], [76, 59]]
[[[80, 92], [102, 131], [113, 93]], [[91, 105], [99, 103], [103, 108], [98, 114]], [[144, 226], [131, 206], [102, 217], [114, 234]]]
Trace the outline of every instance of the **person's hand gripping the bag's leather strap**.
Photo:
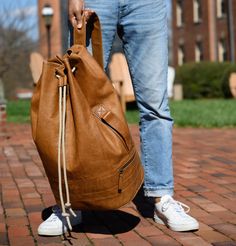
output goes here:
[[68, 15], [72, 26], [81, 28], [82, 15], [85, 15], [86, 21], [93, 14], [94, 11], [89, 9], [84, 9], [84, 0], [68, 0]]

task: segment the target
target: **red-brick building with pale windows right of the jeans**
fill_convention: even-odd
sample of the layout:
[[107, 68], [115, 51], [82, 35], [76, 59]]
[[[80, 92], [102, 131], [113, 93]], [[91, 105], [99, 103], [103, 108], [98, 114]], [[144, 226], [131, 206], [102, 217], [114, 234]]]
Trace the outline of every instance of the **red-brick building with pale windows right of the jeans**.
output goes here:
[[236, 0], [172, 0], [173, 65], [236, 60]]

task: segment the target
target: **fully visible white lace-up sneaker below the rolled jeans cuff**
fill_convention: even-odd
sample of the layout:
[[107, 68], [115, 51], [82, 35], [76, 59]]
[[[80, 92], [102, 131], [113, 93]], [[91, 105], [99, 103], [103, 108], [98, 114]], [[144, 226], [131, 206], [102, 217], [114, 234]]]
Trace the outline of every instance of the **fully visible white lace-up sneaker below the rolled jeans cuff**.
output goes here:
[[[187, 208], [187, 211], [184, 208]], [[187, 214], [189, 210], [190, 208], [184, 203], [165, 195], [155, 204], [154, 220], [156, 223], [165, 224], [173, 231], [198, 230], [197, 220]]]

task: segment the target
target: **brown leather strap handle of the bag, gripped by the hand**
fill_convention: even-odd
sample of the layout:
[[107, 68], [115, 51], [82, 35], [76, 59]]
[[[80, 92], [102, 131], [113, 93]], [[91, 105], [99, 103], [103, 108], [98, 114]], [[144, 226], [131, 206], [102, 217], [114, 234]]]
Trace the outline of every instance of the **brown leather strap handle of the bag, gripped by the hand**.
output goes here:
[[[82, 22], [83, 24], [81, 29], [74, 27], [73, 43], [80, 44], [86, 47], [86, 38], [88, 30], [86, 30], [86, 19], [84, 15]], [[100, 21], [96, 13], [93, 13], [90, 16], [87, 25], [91, 27], [93, 57], [103, 69], [102, 31]]]

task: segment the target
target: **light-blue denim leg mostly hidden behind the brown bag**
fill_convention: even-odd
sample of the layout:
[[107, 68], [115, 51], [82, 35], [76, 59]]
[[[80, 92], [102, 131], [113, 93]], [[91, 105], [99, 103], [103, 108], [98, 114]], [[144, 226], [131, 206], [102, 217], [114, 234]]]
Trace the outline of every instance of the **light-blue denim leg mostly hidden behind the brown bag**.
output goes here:
[[[85, 8], [94, 10], [102, 28], [104, 69], [107, 70], [118, 23], [117, 0], [85, 0]], [[91, 46], [88, 48], [91, 49]]]

